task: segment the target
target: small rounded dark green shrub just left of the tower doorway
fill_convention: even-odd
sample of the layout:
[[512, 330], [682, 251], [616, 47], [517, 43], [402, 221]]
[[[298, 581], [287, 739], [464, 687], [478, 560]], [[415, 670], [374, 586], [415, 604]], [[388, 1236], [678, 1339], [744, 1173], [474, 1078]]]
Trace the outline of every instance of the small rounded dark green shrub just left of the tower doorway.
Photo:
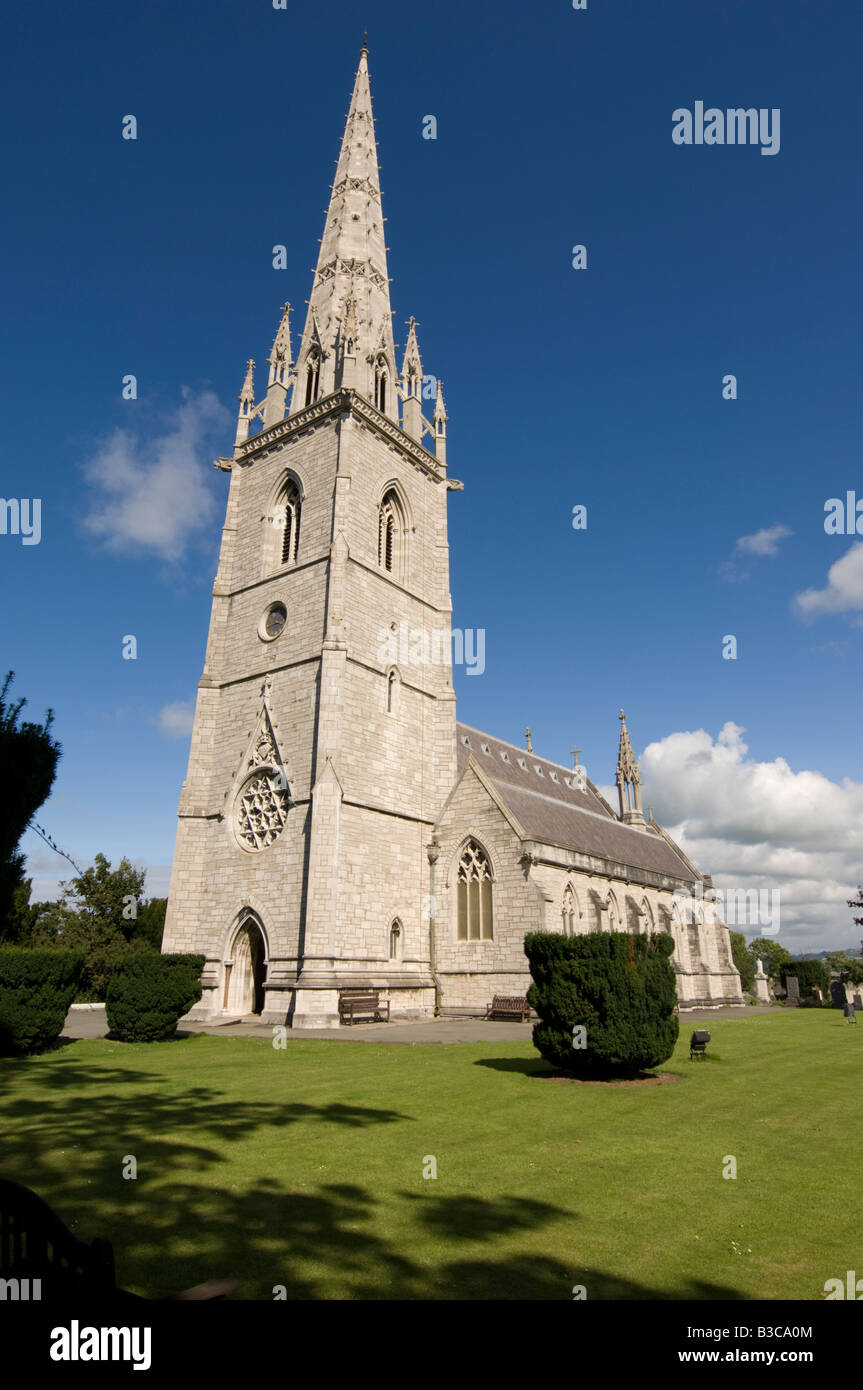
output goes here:
[[135, 954], [114, 966], [106, 998], [108, 1029], [122, 1042], [156, 1042], [202, 995], [202, 955]]

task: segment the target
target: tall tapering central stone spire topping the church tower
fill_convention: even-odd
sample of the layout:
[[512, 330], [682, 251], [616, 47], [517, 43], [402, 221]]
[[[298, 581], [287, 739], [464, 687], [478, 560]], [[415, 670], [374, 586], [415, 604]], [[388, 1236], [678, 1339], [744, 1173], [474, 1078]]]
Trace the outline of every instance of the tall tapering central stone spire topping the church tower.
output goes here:
[[[297, 356], [290, 414], [336, 385], [347, 385], [347, 366], [354, 389], [397, 421], [396, 354], [367, 58], [368, 49], [363, 46]], [[356, 367], [349, 366], [342, 349], [342, 343], [347, 346], [349, 310], [354, 320]]]

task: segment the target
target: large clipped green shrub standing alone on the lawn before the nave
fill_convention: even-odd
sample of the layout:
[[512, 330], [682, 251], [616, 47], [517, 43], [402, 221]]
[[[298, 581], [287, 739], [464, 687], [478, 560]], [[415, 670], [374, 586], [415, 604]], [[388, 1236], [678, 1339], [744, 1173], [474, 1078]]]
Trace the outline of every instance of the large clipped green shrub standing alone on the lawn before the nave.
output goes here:
[[[534, 977], [528, 1002], [539, 1015], [534, 1047], [546, 1062], [584, 1077], [634, 1076], [659, 1066], [678, 1034], [673, 951], [666, 933], [527, 935]], [[584, 1047], [573, 1047], [575, 1024], [586, 1031]]]

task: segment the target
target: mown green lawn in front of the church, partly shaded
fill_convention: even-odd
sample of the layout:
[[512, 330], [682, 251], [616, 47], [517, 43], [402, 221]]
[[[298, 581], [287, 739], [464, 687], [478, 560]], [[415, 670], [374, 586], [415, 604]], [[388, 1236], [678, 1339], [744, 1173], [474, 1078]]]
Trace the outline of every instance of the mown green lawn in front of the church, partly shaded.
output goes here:
[[521, 1042], [72, 1042], [1, 1063], [0, 1172], [151, 1297], [821, 1298], [863, 1275], [863, 1029], [710, 1029], [641, 1088], [539, 1080]]

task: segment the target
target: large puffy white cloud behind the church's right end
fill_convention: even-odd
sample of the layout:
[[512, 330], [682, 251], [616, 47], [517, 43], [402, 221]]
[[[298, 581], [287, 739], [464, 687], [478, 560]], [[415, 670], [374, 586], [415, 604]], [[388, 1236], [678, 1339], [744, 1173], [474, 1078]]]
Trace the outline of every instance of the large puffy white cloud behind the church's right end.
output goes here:
[[[846, 899], [863, 877], [863, 784], [748, 756], [725, 723], [670, 734], [641, 756], [656, 819], [717, 888], [778, 888], [789, 951], [856, 944]], [[755, 930], [746, 930], [748, 935]]]

